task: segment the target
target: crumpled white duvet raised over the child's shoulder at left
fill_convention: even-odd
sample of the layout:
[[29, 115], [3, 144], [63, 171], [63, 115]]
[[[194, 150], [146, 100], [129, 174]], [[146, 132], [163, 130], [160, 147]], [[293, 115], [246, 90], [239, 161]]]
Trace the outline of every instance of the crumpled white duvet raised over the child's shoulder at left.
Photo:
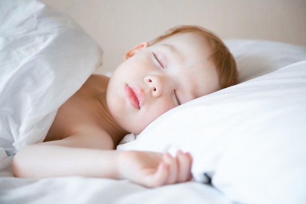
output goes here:
[[39, 1], [0, 5], [0, 147], [14, 153], [44, 140], [57, 109], [101, 66], [102, 50]]

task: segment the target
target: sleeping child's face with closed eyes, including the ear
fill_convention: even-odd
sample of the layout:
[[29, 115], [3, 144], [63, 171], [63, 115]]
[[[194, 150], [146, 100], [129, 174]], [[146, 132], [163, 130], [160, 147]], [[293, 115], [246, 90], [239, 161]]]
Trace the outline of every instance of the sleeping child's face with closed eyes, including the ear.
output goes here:
[[140, 133], [161, 114], [219, 90], [211, 51], [192, 33], [132, 48], [110, 78], [109, 111], [118, 124]]

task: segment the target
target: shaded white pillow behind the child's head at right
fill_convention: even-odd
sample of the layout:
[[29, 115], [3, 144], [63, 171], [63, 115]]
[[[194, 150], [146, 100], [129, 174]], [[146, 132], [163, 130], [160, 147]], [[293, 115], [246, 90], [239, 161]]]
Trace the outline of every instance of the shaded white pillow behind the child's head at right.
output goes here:
[[253, 39], [231, 39], [224, 43], [236, 59], [240, 82], [306, 59], [305, 46]]

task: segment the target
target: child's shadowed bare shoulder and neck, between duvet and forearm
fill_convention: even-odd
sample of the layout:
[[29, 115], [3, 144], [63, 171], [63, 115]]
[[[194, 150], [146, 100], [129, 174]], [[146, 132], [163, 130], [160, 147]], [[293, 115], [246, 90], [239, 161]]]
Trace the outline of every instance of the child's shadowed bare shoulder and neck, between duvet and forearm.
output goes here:
[[106, 90], [109, 78], [91, 75], [58, 110], [44, 141], [73, 135], [99, 136], [117, 144], [127, 134], [109, 113]]

